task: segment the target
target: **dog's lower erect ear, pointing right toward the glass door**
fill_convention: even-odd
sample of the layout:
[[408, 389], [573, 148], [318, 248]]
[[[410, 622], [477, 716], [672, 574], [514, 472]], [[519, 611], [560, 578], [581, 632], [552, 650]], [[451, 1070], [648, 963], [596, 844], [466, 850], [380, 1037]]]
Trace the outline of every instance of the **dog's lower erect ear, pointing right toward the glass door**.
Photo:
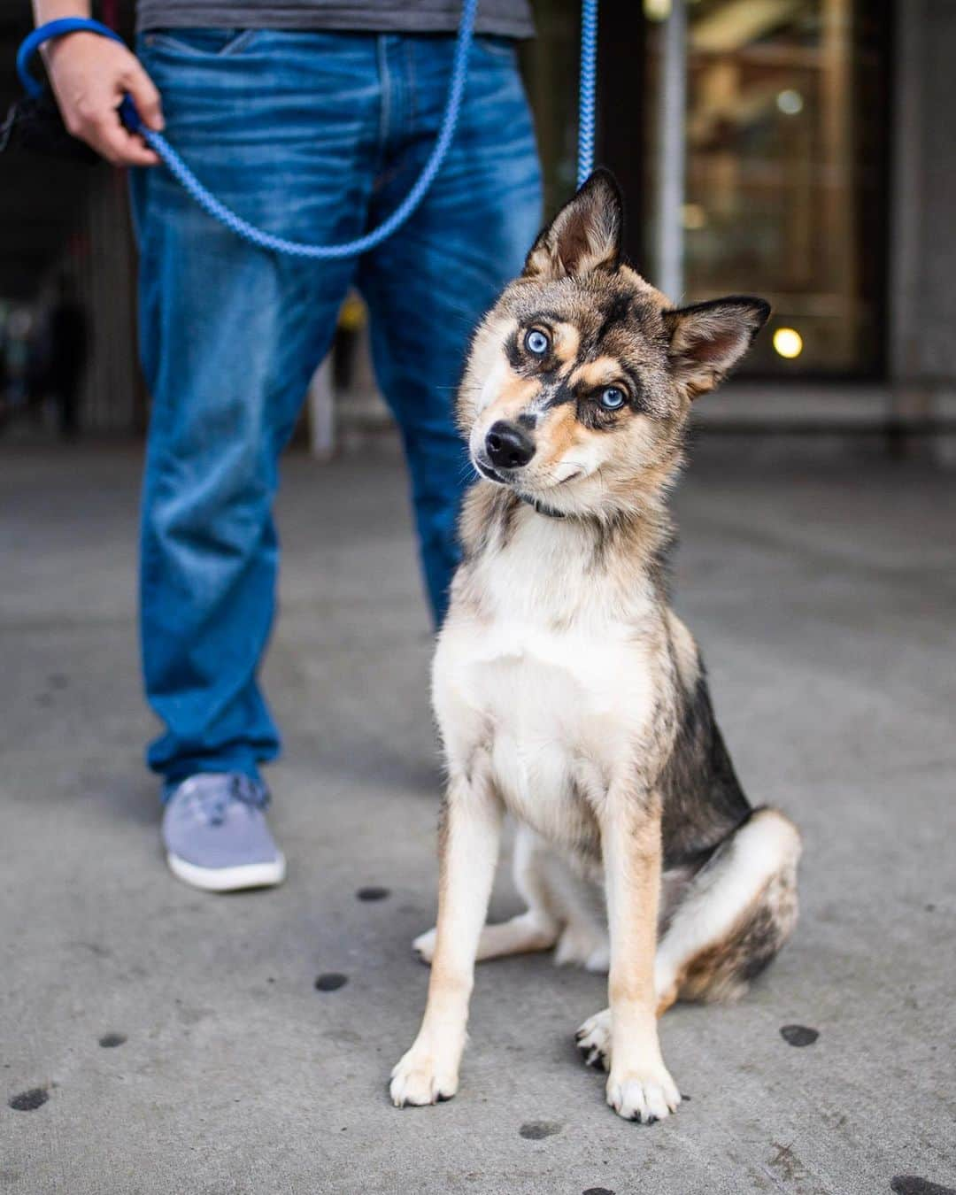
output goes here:
[[670, 368], [691, 398], [723, 381], [768, 315], [770, 304], [753, 295], [730, 295], [663, 312]]

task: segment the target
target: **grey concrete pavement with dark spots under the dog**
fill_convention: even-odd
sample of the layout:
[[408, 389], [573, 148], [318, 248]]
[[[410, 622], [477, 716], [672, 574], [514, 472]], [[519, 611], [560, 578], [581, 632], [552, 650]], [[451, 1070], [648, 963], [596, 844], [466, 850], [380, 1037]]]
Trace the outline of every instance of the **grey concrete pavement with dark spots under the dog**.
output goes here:
[[[803, 912], [743, 1003], [668, 1013], [691, 1099], [641, 1128], [574, 1050], [603, 980], [546, 957], [479, 969], [453, 1102], [388, 1103], [439, 796], [397, 462], [287, 461], [265, 681], [289, 880], [216, 897], [166, 872], [140, 761], [137, 455], [0, 451], [0, 1191], [956, 1188], [952, 474], [699, 458], [678, 605], [752, 799], [804, 831]], [[503, 871], [492, 914], [515, 908]]]

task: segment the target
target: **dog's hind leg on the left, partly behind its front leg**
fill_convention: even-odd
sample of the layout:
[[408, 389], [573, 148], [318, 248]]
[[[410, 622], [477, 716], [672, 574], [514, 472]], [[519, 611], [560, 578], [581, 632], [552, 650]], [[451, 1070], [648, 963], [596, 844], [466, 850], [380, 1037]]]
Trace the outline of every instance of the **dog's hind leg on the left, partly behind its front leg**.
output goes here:
[[[547, 846], [527, 826], [515, 835], [514, 880], [527, 909], [498, 925], [486, 925], [478, 939], [476, 962], [550, 950], [558, 940], [560, 923], [554, 909], [547, 876]], [[435, 952], [435, 931], [429, 930], [412, 942], [419, 958], [430, 963]]]

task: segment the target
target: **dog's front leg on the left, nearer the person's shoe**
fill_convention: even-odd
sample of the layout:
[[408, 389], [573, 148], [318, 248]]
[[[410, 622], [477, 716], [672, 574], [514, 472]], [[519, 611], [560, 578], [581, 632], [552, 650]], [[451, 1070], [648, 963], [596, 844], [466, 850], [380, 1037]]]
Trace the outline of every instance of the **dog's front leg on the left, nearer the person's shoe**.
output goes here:
[[501, 840], [502, 808], [486, 777], [453, 777], [439, 834], [439, 920], [422, 1028], [392, 1071], [392, 1102], [434, 1104], [458, 1091], [478, 938]]

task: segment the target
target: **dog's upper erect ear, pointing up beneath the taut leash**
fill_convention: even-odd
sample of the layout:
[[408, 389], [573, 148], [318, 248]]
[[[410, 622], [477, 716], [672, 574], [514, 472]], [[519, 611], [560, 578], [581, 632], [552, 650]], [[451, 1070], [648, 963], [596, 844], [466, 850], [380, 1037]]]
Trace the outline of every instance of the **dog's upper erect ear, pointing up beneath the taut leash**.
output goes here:
[[523, 277], [547, 281], [617, 270], [624, 234], [624, 201], [614, 176], [595, 170], [577, 195], [539, 233]]

